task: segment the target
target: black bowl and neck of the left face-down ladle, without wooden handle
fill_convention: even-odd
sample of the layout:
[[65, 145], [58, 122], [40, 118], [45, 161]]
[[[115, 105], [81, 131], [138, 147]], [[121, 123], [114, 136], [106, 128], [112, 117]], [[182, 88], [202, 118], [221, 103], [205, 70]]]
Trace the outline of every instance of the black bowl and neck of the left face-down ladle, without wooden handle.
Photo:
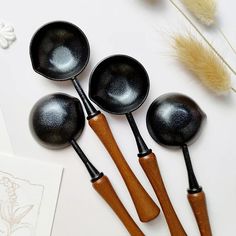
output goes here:
[[41, 98], [32, 108], [29, 123], [33, 136], [43, 146], [61, 149], [72, 145], [86, 166], [91, 181], [103, 176], [75, 141], [85, 125], [83, 109], [77, 98], [62, 93]]

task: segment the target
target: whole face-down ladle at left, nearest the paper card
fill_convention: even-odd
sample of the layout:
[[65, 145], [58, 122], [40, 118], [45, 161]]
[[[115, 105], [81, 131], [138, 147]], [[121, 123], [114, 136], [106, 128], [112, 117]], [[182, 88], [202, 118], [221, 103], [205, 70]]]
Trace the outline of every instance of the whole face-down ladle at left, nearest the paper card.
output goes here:
[[52, 94], [41, 98], [30, 114], [30, 129], [36, 140], [50, 149], [72, 145], [86, 166], [94, 189], [114, 210], [129, 233], [144, 235], [117, 196], [109, 179], [88, 160], [76, 142], [84, 129], [84, 113], [78, 99], [66, 94]]

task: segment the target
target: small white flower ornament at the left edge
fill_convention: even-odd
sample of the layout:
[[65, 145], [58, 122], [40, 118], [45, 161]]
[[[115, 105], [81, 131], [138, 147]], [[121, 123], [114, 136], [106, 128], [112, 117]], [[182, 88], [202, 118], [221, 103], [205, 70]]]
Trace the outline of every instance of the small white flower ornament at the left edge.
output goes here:
[[0, 23], [0, 47], [8, 48], [16, 40], [14, 28], [10, 25]]

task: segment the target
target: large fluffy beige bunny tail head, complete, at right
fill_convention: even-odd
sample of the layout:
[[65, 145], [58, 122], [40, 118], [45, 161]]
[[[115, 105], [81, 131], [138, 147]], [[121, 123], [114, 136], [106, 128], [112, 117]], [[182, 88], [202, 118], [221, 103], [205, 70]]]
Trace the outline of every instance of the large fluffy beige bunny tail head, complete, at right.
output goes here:
[[231, 90], [230, 74], [215, 53], [193, 36], [174, 36], [177, 58], [211, 91], [224, 94]]

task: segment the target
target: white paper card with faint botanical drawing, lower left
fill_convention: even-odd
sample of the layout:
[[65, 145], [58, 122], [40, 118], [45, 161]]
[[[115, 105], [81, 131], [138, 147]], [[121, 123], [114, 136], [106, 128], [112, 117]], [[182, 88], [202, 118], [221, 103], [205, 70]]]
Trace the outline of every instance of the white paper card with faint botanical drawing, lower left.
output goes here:
[[0, 236], [50, 236], [63, 168], [0, 156]]

